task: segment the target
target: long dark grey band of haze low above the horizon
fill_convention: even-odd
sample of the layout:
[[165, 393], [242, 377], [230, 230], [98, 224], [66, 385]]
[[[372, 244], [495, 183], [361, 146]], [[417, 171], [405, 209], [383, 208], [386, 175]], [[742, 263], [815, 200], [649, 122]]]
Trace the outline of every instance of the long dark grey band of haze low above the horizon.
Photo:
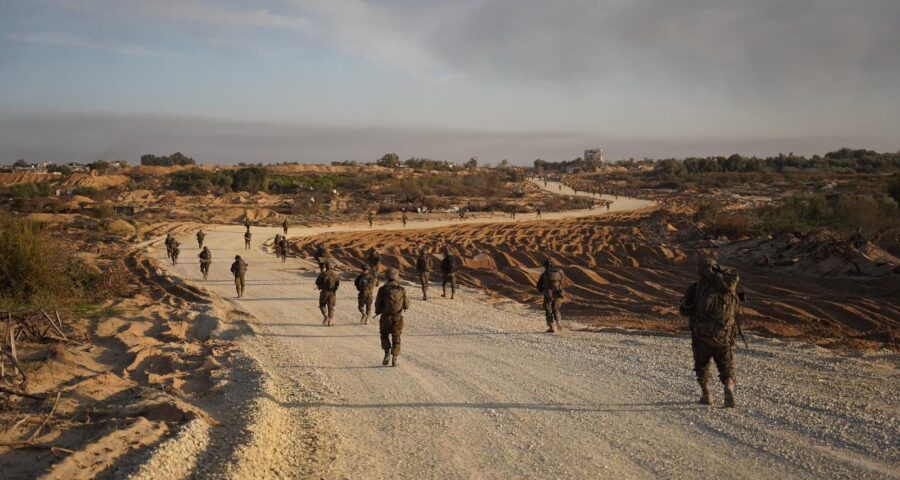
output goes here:
[[677, 138], [648, 141], [555, 132], [490, 132], [440, 129], [337, 128], [201, 118], [122, 115], [41, 114], [0, 117], [0, 163], [18, 158], [57, 163], [126, 159], [144, 153], [181, 151], [219, 164], [298, 161], [372, 161], [387, 152], [401, 157], [485, 162], [508, 158], [529, 164], [535, 158], [571, 159], [585, 148], [606, 147], [608, 158], [713, 155], [740, 152], [824, 153], [842, 146], [894, 151], [893, 143], [854, 137]]

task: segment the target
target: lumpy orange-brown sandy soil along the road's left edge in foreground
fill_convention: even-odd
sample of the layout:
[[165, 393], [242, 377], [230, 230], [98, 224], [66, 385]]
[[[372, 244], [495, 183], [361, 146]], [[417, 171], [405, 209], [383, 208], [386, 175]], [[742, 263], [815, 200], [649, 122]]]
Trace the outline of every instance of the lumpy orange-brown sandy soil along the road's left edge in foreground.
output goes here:
[[70, 338], [81, 344], [18, 345], [28, 384], [0, 384], [45, 399], [0, 395], [4, 478], [113, 478], [179, 425], [215, 424], [205, 404], [224, 384], [234, 348], [212, 338], [226, 315], [136, 253], [124, 264], [137, 293], [87, 317], [70, 313]]

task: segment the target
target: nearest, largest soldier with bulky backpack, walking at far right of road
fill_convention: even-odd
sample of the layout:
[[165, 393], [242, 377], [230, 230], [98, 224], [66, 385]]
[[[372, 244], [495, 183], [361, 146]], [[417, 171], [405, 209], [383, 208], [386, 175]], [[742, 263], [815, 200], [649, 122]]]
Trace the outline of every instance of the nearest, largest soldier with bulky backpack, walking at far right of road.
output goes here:
[[694, 372], [700, 384], [700, 403], [711, 403], [709, 361], [716, 362], [724, 386], [725, 407], [734, 408], [734, 341], [740, 331], [737, 314], [741, 308], [737, 272], [723, 268], [715, 260], [701, 257], [700, 279], [690, 287], [678, 307], [688, 317]]

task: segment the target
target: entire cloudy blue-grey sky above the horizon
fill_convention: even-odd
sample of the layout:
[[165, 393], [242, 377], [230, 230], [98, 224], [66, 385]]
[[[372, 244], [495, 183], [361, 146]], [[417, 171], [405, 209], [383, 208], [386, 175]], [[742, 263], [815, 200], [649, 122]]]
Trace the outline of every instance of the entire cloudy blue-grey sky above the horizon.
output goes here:
[[0, 0], [0, 163], [900, 150], [897, 0]]

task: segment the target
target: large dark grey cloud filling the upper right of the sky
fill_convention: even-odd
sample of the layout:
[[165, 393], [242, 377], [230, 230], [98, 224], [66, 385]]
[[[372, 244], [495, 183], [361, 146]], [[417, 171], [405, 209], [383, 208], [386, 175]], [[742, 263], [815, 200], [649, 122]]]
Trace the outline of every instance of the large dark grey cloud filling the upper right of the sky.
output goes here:
[[896, 0], [472, 1], [427, 41], [458, 69], [519, 79], [726, 84], [747, 95], [897, 92]]

